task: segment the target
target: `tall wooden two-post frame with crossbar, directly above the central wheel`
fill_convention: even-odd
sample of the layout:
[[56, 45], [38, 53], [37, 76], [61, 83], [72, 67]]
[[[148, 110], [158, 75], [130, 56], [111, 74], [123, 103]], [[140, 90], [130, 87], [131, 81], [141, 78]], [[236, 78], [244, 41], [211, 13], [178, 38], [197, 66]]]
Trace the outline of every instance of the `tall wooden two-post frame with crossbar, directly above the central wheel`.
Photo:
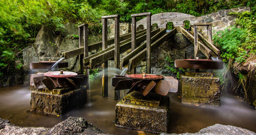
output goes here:
[[[146, 16], [146, 72], [151, 73], [151, 12], [132, 14], [132, 50], [135, 49], [136, 44], [136, 17]], [[132, 70], [136, 73], [136, 68]]]

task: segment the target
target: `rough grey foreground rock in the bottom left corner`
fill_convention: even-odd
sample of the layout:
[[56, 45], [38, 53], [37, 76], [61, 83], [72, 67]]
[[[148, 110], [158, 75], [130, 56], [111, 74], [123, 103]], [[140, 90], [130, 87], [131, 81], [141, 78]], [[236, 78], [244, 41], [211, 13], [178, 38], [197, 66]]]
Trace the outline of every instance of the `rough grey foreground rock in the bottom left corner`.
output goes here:
[[69, 117], [52, 128], [20, 127], [0, 118], [0, 134], [105, 134], [81, 117]]

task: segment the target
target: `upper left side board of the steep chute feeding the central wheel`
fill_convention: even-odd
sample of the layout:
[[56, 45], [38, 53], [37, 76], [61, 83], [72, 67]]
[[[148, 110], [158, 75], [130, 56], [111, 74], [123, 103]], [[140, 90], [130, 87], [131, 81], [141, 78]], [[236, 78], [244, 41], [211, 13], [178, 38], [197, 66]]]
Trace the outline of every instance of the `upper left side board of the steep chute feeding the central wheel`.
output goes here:
[[[151, 38], [151, 41], [154, 42], [158, 37], [163, 35], [165, 33], [166, 29], [161, 30], [159, 33], [157, 33], [155, 36]], [[129, 60], [134, 57], [136, 54], [138, 54], [141, 50], [143, 50], [146, 46], [146, 43], [141, 44], [136, 49], [132, 50], [130, 53], [128, 53], [126, 56], [124, 56], [120, 61], [120, 69], [129, 63]]]

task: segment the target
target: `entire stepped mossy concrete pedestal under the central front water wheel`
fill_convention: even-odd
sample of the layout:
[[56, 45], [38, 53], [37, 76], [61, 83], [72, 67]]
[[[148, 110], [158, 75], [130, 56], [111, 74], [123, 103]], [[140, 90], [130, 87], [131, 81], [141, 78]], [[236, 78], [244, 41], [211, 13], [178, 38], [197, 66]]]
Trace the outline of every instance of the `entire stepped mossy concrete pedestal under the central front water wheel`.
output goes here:
[[169, 97], [154, 93], [150, 97], [155, 99], [147, 99], [137, 91], [126, 95], [116, 104], [115, 125], [155, 133], [167, 132]]

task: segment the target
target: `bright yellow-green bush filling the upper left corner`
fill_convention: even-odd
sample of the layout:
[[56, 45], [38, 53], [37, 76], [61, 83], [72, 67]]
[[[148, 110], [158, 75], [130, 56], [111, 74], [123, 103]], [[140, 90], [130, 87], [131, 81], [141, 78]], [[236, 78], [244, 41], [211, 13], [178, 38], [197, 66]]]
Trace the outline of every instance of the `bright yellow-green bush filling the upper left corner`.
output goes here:
[[[0, 0], [0, 72], [13, 69], [25, 47], [33, 44], [41, 25], [61, 33], [67, 22], [98, 24], [100, 14], [86, 1]], [[93, 31], [93, 30], [91, 30]], [[19, 66], [20, 67], [20, 66]]]

